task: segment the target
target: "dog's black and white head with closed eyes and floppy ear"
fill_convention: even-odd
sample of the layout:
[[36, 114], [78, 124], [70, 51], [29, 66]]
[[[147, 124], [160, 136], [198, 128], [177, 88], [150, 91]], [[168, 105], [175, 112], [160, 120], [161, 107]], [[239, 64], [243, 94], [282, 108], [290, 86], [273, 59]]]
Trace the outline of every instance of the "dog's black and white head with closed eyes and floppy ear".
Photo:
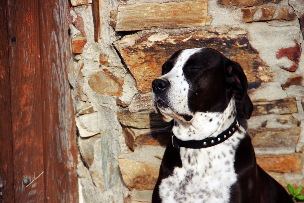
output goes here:
[[240, 114], [250, 118], [253, 105], [247, 79], [237, 62], [211, 48], [183, 49], [162, 66], [152, 82], [156, 112], [165, 121], [190, 121], [195, 112], [223, 112], [231, 98], [240, 101]]

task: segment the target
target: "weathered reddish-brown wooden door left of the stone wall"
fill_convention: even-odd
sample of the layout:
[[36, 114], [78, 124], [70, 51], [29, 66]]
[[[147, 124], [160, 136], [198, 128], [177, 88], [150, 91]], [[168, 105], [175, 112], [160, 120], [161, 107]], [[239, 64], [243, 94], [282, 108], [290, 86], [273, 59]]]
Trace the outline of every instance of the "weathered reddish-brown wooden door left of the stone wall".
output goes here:
[[77, 202], [68, 9], [0, 1], [0, 202]]

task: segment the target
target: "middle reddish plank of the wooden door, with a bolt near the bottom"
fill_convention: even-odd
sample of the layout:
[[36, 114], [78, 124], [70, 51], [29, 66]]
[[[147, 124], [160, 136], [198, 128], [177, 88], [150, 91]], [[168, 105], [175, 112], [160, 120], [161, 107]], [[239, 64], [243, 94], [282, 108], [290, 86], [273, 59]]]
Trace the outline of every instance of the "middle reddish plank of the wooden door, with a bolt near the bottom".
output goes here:
[[[11, 80], [15, 202], [44, 202], [43, 131], [38, 0], [9, 0], [8, 35]], [[22, 5], [22, 6], [20, 6]]]

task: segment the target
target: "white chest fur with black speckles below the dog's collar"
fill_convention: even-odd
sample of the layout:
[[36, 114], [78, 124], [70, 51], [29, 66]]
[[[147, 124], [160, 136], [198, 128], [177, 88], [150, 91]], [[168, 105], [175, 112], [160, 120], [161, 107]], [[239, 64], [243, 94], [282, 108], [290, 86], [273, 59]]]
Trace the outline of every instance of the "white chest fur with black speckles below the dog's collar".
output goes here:
[[234, 156], [244, 129], [211, 148], [181, 148], [182, 167], [161, 181], [162, 202], [229, 202], [230, 187], [237, 181]]

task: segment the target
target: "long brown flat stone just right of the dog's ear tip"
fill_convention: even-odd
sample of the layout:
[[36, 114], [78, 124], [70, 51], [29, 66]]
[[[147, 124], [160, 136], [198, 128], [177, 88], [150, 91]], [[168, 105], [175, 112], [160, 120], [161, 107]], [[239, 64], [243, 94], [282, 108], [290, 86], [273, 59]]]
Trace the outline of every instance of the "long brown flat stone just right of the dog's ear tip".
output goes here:
[[297, 113], [297, 103], [295, 98], [285, 98], [274, 101], [256, 100], [253, 102], [254, 110], [251, 116], [263, 114], [292, 114]]

